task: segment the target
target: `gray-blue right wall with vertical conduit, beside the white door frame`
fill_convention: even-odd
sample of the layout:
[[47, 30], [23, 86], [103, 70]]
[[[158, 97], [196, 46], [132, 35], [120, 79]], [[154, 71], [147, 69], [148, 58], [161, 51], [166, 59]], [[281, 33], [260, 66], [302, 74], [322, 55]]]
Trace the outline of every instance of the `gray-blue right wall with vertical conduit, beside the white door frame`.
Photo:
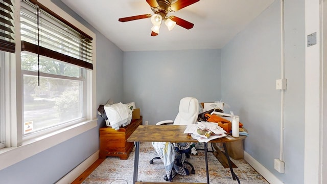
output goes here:
[[285, 2], [285, 174], [279, 158], [281, 11], [276, 1], [222, 49], [222, 99], [249, 130], [245, 151], [285, 183], [303, 183], [304, 1]]

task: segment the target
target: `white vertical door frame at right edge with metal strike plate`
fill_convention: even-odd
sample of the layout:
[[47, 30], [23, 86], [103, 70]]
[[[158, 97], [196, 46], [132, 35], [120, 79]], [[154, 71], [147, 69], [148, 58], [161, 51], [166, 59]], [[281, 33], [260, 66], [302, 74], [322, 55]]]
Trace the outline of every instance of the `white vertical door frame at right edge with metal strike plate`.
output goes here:
[[[325, 0], [305, 0], [305, 160], [304, 183], [323, 183], [323, 4]], [[316, 44], [307, 45], [308, 35], [316, 33]], [[326, 77], [324, 77], [326, 78]], [[325, 138], [326, 139], [326, 138]], [[325, 171], [324, 171], [325, 172]], [[326, 180], [325, 180], [326, 181]]]

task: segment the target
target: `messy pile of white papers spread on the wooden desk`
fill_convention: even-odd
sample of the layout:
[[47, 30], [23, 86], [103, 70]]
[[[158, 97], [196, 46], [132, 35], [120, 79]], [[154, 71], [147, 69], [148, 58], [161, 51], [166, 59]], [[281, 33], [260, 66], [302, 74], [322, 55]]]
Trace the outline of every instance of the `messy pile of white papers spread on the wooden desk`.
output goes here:
[[209, 142], [210, 140], [218, 139], [226, 136], [226, 131], [218, 126], [217, 123], [198, 122], [197, 124], [190, 124], [186, 126], [184, 133], [190, 133], [193, 139], [200, 143]]

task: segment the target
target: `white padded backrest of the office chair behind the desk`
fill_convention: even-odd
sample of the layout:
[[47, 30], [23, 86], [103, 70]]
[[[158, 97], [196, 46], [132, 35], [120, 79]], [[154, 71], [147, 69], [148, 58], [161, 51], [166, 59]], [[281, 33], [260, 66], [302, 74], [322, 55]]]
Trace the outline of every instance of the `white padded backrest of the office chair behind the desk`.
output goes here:
[[178, 114], [174, 125], [188, 125], [196, 123], [199, 115], [199, 101], [196, 98], [185, 97], [179, 102]]

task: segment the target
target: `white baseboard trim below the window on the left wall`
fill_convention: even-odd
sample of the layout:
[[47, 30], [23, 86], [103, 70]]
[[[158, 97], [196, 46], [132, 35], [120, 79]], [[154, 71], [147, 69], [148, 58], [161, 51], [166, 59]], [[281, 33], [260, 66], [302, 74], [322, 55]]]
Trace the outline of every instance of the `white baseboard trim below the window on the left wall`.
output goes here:
[[74, 168], [71, 172], [66, 174], [64, 177], [62, 177], [57, 184], [69, 184], [72, 183], [76, 178], [78, 178], [88, 167], [90, 167], [93, 163], [95, 163], [99, 159], [99, 150], [96, 151], [94, 154], [89, 156], [82, 162], [80, 165], [78, 165], [76, 168]]

